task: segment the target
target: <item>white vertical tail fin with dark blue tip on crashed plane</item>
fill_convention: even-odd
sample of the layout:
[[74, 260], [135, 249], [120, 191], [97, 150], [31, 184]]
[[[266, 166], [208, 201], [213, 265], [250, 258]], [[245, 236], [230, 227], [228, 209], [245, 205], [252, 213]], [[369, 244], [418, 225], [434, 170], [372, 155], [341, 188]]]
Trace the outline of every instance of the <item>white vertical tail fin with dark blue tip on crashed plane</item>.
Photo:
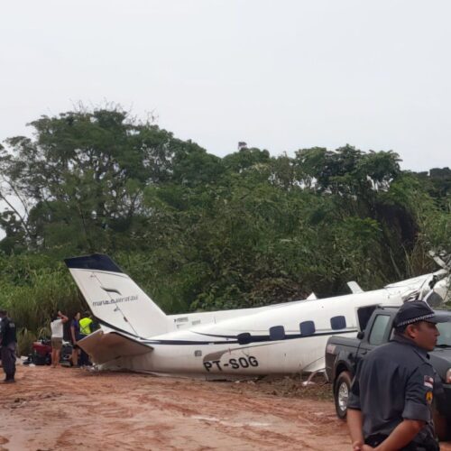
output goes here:
[[64, 262], [102, 326], [143, 338], [168, 331], [161, 308], [107, 255], [94, 253]]

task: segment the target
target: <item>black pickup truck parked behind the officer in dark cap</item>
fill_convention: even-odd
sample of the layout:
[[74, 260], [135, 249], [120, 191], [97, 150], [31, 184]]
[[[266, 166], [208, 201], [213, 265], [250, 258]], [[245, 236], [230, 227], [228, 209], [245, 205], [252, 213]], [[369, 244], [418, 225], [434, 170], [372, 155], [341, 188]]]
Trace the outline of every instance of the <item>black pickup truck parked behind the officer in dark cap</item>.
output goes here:
[[[346, 417], [346, 403], [356, 365], [364, 354], [374, 347], [387, 343], [392, 334], [392, 322], [398, 308], [375, 308], [356, 338], [331, 336], [326, 346], [326, 373], [332, 382], [336, 415]], [[449, 315], [451, 311], [436, 310], [440, 315]], [[361, 324], [362, 327], [362, 324]], [[446, 392], [446, 422], [451, 429], [451, 322], [437, 324], [440, 332], [437, 346], [430, 352], [430, 361], [444, 383]]]

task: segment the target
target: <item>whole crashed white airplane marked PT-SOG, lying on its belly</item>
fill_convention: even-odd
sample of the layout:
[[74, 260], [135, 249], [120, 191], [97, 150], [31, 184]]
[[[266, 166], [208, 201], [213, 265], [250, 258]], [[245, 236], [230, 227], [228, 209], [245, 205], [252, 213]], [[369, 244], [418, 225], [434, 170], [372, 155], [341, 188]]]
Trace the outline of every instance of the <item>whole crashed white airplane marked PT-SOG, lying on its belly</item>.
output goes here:
[[442, 297], [449, 283], [441, 270], [368, 292], [352, 282], [354, 294], [328, 299], [165, 315], [108, 256], [65, 262], [100, 325], [79, 342], [95, 364], [207, 379], [322, 371], [329, 336], [356, 336], [373, 308], [423, 296], [434, 276]]

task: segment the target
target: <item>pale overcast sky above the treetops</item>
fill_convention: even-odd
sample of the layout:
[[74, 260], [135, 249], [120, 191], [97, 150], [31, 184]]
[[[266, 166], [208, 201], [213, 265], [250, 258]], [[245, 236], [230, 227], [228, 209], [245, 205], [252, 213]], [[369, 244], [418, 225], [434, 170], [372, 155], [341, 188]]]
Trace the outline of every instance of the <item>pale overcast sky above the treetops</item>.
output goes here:
[[451, 166], [451, 2], [15, 0], [0, 5], [0, 141], [116, 102], [224, 156], [351, 143]]

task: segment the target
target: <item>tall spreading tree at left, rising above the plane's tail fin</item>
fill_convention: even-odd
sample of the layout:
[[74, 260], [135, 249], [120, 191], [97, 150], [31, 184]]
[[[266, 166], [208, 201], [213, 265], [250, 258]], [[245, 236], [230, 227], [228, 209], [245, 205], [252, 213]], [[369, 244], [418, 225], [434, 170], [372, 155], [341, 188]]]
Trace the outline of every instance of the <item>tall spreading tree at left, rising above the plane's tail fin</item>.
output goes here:
[[10, 138], [0, 154], [0, 197], [22, 203], [9, 202], [1, 219], [8, 251], [21, 241], [29, 249], [114, 250], [150, 215], [146, 186], [180, 178], [186, 161], [209, 158], [120, 108], [42, 116], [31, 125], [35, 139]]

